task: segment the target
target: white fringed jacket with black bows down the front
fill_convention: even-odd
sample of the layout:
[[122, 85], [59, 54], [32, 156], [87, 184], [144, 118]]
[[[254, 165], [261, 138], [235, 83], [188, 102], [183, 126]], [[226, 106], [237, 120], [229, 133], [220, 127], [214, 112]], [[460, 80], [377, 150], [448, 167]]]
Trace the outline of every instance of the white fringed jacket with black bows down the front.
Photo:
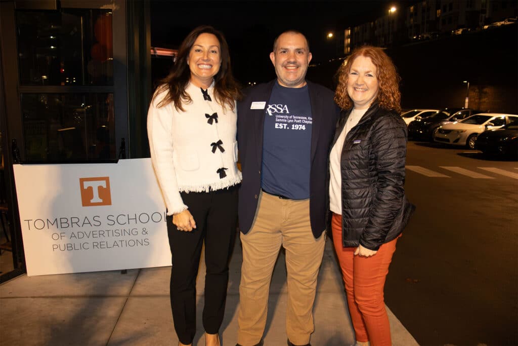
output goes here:
[[[151, 162], [167, 215], [188, 209], [180, 192], [209, 192], [209, 188], [219, 190], [241, 182], [236, 166], [236, 108], [227, 106], [223, 111], [213, 84], [208, 89], [212, 101], [204, 100], [200, 88], [191, 83], [185, 90], [192, 99], [183, 105], [185, 112], [177, 111], [174, 102], [157, 107], [167, 91], [156, 94], [148, 111]], [[215, 145], [220, 140], [222, 144]]]

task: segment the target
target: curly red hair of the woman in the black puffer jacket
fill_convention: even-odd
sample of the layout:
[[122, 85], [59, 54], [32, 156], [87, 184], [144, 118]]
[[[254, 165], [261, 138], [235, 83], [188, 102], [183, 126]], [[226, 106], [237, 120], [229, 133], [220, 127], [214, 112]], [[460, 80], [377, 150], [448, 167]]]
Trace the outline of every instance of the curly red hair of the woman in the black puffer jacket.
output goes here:
[[354, 59], [357, 57], [368, 57], [376, 66], [376, 78], [378, 78], [379, 90], [376, 101], [380, 107], [394, 109], [401, 112], [401, 93], [399, 92], [399, 75], [391, 58], [378, 47], [364, 46], [353, 51], [346, 63], [338, 69], [338, 86], [335, 92], [335, 102], [342, 109], [351, 108], [354, 103], [347, 92], [347, 81]]

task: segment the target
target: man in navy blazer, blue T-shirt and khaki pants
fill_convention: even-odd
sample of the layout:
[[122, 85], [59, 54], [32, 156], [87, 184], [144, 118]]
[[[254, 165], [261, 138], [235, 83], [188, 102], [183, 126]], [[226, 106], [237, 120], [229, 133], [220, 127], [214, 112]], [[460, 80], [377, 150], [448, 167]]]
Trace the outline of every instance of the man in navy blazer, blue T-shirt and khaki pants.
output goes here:
[[334, 93], [306, 80], [306, 37], [286, 31], [270, 60], [277, 79], [247, 90], [238, 103], [243, 180], [243, 248], [238, 346], [263, 344], [271, 275], [286, 253], [288, 345], [308, 345], [328, 214], [328, 154], [339, 108]]

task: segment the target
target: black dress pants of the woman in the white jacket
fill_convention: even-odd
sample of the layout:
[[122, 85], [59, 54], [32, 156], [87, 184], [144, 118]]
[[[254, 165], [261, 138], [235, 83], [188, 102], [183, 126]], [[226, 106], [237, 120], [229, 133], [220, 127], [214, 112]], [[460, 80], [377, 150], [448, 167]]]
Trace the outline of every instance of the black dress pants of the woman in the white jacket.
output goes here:
[[225, 312], [228, 261], [237, 228], [238, 186], [210, 192], [181, 192], [194, 217], [196, 228], [179, 231], [167, 217], [172, 254], [171, 310], [178, 339], [190, 344], [196, 333], [196, 276], [205, 242], [205, 306], [203, 326], [209, 334], [219, 332]]

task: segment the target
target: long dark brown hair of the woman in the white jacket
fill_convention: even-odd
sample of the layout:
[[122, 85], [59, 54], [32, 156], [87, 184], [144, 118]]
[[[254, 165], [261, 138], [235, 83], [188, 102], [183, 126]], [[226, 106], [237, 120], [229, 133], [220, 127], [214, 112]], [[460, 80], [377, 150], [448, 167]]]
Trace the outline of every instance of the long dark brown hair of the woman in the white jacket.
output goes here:
[[194, 45], [194, 42], [199, 35], [208, 33], [216, 36], [220, 43], [220, 54], [221, 54], [221, 66], [218, 73], [214, 76], [214, 96], [216, 101], [221, 104], [223, 109], [228, 106], [234, 109], [235, 100], [241, 98], [241, 91], [239, 84], [234, 79], [230, 64], [230, 54], [228, 52], [228, 45], [225, 40], [225, 36], [215, 30], [212, 26], [202, 25], [196, 27], [185, 39], [183, 40], [180, 48], [178, 49], [178, 56], [176, 63], [173, 66], [171, 72], [167, 77], [159, 82], [159, 87], [153, 98], [159, 92], [167, 90], [167, 95], [158, 104], [159, 107], [164, 107], [171, 102], [174, 102], [176, 110], [185, 110], [182, 104], [188, 104], [192, 102], [191, 96], [185, 91], [185, 88], [189, 84], [191, 79], [191, 70], [187, 60], [189, 59], [189, 53]]

